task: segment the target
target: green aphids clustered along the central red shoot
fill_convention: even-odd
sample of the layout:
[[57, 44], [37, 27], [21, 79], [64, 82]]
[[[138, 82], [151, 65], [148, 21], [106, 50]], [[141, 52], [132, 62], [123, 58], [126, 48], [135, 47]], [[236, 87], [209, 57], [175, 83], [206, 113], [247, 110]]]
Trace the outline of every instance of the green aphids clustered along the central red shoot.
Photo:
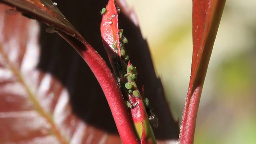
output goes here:
[[[120, 13], [120, 8], [116, 5], [117, 12]], [[103, 15], [106, 12], [106, 8], [102, 8], [101, 14]], [[112, 16], [113, 17], [113, 16]], [[123, 29], [120, 29], [118, 32], [118, 37], [119, 37], [119, 46], [120, 46], [120, 56], [118, 55], [118, 49], [117, 49], [117, 42], [114, 42], [112, 44], [112, 50], [116, 52], [116, 56], [112, 56], [112, 60], [115, 62], [115, 67], [118, 71], [118, 74], [120, 78], [118, 81], [123, 81], [120, 83], [124, 84], [124, 87], [126, 90], [128, 90], [128, 100], [126, 102], [126, 106], [128, 108], [134, 108], [138, 103], [134, 102], [130, 99], [130, 97], [133, 98], [140, 98], [140, 92], [136, 86], [135, 81], [137, 80], [137, 70], [135, 66], [132, 66], [130, 62], [128, 64], [125, 63], [125, 61], [129, 60], [129, 56], [126, 54], [124, 50], [124, 44], [128, 43], [127, 38], [123, 35], [124, 31]], [[121, 60], [121, 62], [120, 62]], [[122, 84], [121, 84], [122, 85]], [[122, 88], [121, 88], [122, 89]], [[126, 94], [124, 94], [126, 95]], [[127, 99], [127, 98], [125, 98]], [[148, 119], [149, 122], [154, 126], [158, 127], [158, 119], [156, 118], [155, 114], [152, 112], [150, 108], [148, 108], [149, 100], [148, 98], [145, 98], [143, 100], [146, 112], [148, 114]]]

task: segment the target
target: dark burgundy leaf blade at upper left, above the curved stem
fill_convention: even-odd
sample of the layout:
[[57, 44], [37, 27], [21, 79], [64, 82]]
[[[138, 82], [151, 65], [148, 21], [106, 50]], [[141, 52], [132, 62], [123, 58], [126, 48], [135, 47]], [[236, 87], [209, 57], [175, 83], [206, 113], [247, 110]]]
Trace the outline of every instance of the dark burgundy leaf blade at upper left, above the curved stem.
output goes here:
[[30, 18], [42, 20], [49, 26], [62, 30], [66, 34], [75, 36], [78, 40], [83, 40], [82, 36], [68, 22], [63, 14], [58, 10], [51, 0], [1, 0], [5, 4], [12, 6], [14, 10], [22, 12]]

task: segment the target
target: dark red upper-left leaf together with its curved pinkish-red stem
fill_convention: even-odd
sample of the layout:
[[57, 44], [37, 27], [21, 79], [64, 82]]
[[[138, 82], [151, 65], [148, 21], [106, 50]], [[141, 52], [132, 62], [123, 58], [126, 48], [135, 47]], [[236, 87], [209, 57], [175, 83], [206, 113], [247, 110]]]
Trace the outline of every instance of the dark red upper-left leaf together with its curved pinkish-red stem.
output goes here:
[[[40, 8], [42, 6], [34, 6], [33, 4], [30, 5], [30, 3], [26, 3], [26, 1], [13, 2], [10, 0], [4, 0], [3, 2], [10, 4], [11, 6], [16, 6], [17, 10], [25, 12], [28, 15], [32, 15], [36, 19], [43, 20], [44, 22], [46, 22], [46, 24], [49, 24], [50, 26], [53, 26], [54, 28], [60, 30], [56, 32], [76, 49], [76, 51], [82, 56], [82, 58], [86, 61], [86, 63], [96, 76], [106, 96], [106, 99], [110, 104], [110, 109], [115, 114], [113, 115], [113, 117], [117, 124], [118, 130], [120, 128], [124, 129], [125, 125], [129, 124], [130, 121], [128, 120], [128, 114], [125, 104], [121, 101], [123, 99], [122, 93], [120, 91], [120, 88], [118, 87], [118, 84], [112, 72], [110, 71], [102, 57], [94, 50], [94, 48], [92, 48], [90, 44], [88, 44], [88, 42], [86, 42], [86, 40], [84, 40], [84, 38], [82, 38], [82, 36], [73, 28], [73, 26], [58, 11], [58, 9], [52, 5], [51, 1], [44, 1], [44, 6], [47, 7], [45, 11], [44, 9]], [[40, 4], [40, 2], [34, 4]], [[33, 9], [36, 7], [37, 9], [39, 8], [44, 12], [42, 12], [41, 14], [41, 12], [38, 12], [35, 9]], [[52, 7], [54, 9], [52, 9]], [[51, 15], [49, 15], [49, 13]], [[122, 131], [125, 130], [126, 129]], [[128, 133], [124, 132], [124, 135], [126, 134]], [[131, 136], [125, 137], [128, 139], [131, 138]]]

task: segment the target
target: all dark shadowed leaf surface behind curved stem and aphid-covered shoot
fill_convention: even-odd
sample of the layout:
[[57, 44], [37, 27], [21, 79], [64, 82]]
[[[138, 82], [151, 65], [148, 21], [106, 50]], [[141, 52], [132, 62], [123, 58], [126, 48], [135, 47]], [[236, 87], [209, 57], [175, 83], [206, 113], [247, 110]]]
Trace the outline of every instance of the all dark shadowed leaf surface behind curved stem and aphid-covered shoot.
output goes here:
[[[82, 34], [110, 66], [100, 35], [100, 10], [106, 7], [107, 0], [56, 0], [58, 8], [70, 23]], [[122, 14], [120, 28], [128, 38], [126, 44], [130, 60], [138, 71], [138, 88], [144, 85], [144, 95], [150, 100], [150, 108], [158, 117], [159, 126], [153, 128], [157, 139], [178, 139], [179, 126], [173, 119], [160, 79], [156, 77], [147, 42], [140, 29]], [[106, 98], [94, 74], [86, 62], [58, 34], [48, 34], [42, 24], [40, 37], [41, 57], [38, 68], [58, 78], [70, 93], [74, 112], [87, 124], [110, 133], [118, 134]]]

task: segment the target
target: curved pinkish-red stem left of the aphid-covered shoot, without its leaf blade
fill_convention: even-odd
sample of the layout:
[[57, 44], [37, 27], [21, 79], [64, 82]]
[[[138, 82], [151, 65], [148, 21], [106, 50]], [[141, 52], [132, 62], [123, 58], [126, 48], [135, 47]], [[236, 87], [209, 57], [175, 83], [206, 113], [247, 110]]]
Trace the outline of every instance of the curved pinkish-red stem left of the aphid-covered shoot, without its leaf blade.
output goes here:
[[139, 141], [134, 134], [122, 92], [106, 62], [85, 40], [83, 42], [75, 41], [75, 38], [61, 31], [58, 34], [76, 49], [96, 76], [110, 106], [122, 142], [138, 144]]

